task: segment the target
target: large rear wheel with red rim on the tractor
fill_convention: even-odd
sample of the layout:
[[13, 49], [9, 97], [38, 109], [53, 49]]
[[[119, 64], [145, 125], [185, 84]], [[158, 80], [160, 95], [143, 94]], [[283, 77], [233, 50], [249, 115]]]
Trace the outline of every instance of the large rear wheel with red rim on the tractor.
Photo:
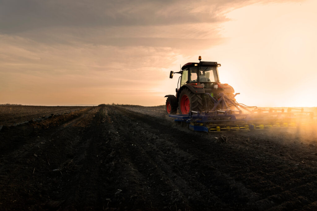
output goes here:
[[188, 114], [190, 111], [202, 111], [201, 94], [192, 93], [187, 88], [183, 89], [179, 95], [178, 109], [180, 114]]

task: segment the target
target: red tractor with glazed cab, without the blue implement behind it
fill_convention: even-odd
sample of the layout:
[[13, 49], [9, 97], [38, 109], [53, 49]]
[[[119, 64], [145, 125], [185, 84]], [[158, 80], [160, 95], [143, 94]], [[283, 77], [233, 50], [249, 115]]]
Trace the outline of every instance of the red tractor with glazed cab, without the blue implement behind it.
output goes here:
[[[232, 86], [220, 83], [218, 67], [221, 65], [201, 61], [201, 56], [198, 60], [198, 63], [189, 62], [183, 65], [179, 72], [170, 72], [170, 78], [173, 78], [174, 73], [181, 75], [178, 78], [176, 95], [165, 96], [167, 114], [176, 114], [177, 109], [179, 114], [228, 109], [235, 104], [234, 97], [239, 93], [234, 95]], [[220, 99], [226, 103], [219, 103]]]

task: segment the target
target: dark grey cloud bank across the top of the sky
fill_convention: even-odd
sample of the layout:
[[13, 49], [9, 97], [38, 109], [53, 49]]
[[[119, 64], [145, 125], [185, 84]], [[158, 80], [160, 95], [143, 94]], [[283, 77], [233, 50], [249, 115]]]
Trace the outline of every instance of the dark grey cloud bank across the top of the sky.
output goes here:
[[2, 0], [0, 34], [52, 45], [207, 49], [224, 41], [217, 26], [230, 10], [275, 1]]

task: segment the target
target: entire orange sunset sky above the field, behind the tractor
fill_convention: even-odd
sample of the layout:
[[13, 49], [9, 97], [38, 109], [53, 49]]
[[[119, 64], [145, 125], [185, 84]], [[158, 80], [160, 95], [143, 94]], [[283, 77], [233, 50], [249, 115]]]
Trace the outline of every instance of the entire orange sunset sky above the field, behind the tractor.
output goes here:
[[187, 62], [259, 107], [316, 107], [317, 1], [0, 0], [0, 104], [165, 104]]

